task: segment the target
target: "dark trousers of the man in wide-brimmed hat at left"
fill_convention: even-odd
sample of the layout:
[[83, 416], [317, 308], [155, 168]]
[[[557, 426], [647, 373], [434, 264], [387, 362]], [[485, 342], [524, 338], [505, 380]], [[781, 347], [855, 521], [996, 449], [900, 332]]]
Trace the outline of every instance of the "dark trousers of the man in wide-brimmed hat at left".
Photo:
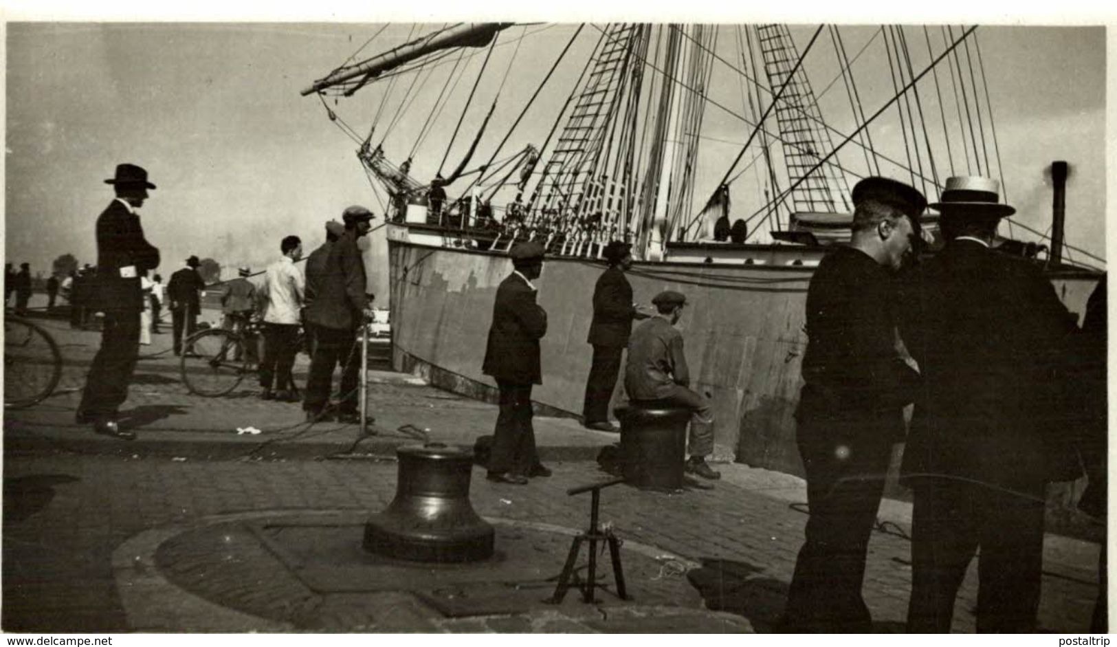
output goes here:
[[128, 380], [140, 354], [140, 313], [105, 313], [101, 331], [101, 350], [85, 380], [78, 416], [107, 417], [128, 397]]

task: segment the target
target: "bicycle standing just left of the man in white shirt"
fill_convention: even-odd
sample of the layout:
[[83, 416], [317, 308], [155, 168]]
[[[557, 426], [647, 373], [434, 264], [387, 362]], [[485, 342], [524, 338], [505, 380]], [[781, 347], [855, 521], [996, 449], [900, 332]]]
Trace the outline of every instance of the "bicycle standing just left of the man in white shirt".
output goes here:
[[[232, 331], [204, 330], [182, 343], [180, 373], [191, 393], [206, 398], [225, 396], [236, 389], [245, 375], [257, 374], [262, 324], [246, 321], [235, 327]], [[302, 331], [295, 343], [305, 351]]]

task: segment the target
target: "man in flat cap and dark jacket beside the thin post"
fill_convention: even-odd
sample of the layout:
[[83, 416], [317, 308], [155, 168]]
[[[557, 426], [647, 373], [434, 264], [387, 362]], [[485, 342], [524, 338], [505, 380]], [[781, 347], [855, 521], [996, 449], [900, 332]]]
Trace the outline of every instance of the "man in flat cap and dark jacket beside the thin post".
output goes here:
[[[357, 412], [361, 356], [354, 352], [356, 333], [364, 324], [369, 297], [367, 277], [357, 239], [372, 229], [374, 216], [364, 207], [342, 212], [344, 232], [336, 242], [314, 251], [306, 266], [306, 311], [304, 316], [314, 339], [311, 375], [306, 381], [303, 410], [308, 421], [322, 420], [330, 402], [334, 367], [341, 364], [341, 399], [337, 420], [360, 422]], [[327, 225], [328, 231], [328, 225]], [[325, 257], [319, 254], [325, 248]], [[317, 255], [317, 256], [314, 256]]]

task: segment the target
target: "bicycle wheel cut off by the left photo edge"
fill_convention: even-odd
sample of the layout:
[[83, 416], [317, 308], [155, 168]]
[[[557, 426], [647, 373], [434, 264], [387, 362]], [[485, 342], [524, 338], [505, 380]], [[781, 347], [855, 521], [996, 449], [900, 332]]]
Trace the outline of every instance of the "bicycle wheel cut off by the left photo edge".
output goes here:
[[12, 316], [3, 320], [3, 406], [30, 407], [54, 392], [63, 377], [63, 354], [50, 333]]

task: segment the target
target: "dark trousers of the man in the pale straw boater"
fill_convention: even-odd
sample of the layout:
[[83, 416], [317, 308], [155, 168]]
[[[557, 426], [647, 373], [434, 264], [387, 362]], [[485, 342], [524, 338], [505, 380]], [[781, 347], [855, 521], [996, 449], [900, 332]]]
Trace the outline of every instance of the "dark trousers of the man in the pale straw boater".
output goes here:
[[977, 631], [1034, 631], [1042, 495], [946, 478], [922, 478], [913, 489], [908, 631], [951, 630], [954, 600], [978, 546]]

